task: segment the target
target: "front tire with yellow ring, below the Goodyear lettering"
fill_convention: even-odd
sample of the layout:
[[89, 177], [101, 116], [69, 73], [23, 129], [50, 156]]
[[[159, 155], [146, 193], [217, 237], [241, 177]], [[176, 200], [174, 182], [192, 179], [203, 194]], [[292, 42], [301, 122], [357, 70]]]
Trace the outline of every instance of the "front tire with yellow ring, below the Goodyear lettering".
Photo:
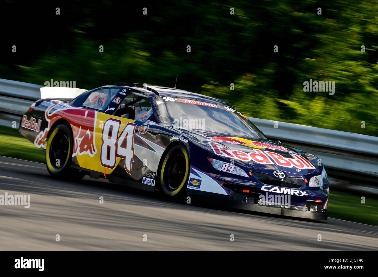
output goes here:
[[160, 168], [160, 190], [174, 198], [182, 197], [189, 180], [189, 154], [183, 145], [175, 145], [168, 150]]

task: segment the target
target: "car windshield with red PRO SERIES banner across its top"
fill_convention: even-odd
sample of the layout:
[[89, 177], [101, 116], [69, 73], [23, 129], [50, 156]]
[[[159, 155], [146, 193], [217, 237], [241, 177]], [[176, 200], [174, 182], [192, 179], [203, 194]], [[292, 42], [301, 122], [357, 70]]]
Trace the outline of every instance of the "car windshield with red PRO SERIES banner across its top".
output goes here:
[[155, 98], [160, 120], [178, 128], [266, 139], [263, 133], [229, 106], [173, 97]]

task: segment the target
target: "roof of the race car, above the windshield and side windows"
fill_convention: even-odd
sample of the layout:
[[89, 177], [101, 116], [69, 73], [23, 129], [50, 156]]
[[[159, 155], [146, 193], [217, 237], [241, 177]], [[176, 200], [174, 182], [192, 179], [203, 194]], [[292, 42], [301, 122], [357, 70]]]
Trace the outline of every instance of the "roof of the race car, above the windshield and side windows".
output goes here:
[[190, 100], [202, 101], [202, 102], [214, 102], [214, 104], [223, 104], [232, 107], [230, 103], [224, 101], [222, 99], [207, 96], [199, 93], [194, 93], [186, 90], [180, 90], [178, 88], [170, 88], [170, 87], [161, 87], [156, 85], [146, 85], [146, 84], [130, 84], [130, 83], [121, 83], [121, 84], [113, 84], [109, 85], [116, 86], [116, 87], [126, 87], [132, 90], [136, 90], [146, 94], [147, 96], [165, 96], [165, 97], [180, 97]]

